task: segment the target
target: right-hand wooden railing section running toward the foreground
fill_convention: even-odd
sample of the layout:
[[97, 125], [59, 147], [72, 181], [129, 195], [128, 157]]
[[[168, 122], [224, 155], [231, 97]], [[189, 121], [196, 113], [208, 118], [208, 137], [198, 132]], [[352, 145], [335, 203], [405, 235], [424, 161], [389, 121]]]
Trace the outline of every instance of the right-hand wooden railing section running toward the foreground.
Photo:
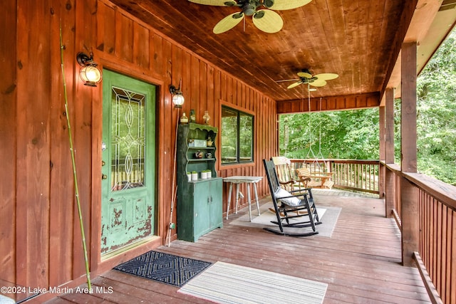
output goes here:
[[417, 193], [418, 248], [414, 253], [432, 303], [456, 303], [456, 187], [419, 173], [400, 172], [397, 165], [382, 164], [394, 174], [393, 213], [402, 217], [401, 179], [407, 179]]

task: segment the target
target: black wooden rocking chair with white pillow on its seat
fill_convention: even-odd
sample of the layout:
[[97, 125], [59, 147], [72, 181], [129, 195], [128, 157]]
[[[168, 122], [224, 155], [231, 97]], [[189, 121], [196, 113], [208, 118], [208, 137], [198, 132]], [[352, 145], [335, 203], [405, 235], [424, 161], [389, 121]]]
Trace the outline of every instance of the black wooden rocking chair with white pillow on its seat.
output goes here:
[[[279, 229], [265, 227], [264, 230], [283, 236], [312, 236], [318, 234], [316, 225], [321, 224], [321, 222], [318, 219], [311, 189], [304, 189], [299, 194], [294, 194], [294, 192], [296, 193], [299, 190], [287, 192], [281, 188], [274, 162], [263, 159], [263, 164], [277, 218], [277, 221], [271, 221], [271, 223], [279, 226]], [[299, 211], [305, 212], [300, 213]], [[298, 230], [304, 227], [311, 227], [312, 230]]]

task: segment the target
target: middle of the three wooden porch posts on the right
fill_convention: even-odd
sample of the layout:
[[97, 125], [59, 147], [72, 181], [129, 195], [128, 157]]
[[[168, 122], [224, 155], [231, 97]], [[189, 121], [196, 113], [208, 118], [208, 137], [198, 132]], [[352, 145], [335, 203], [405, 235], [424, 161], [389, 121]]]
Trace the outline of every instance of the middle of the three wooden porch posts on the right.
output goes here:
[[[385, 163], [394, 164], [394, 88], [385, 90]], [[385, 216], [391, 217], [395, 209], [395, 174], [385, 171]]]

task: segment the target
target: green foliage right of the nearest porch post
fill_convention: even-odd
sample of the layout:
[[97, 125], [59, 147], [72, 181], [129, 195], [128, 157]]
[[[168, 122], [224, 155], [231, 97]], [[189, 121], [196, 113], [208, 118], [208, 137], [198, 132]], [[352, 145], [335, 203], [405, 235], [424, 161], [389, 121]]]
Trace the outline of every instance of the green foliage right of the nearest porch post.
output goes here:
[[456, 31], [417, 80], [418, 171], [456, 184]]

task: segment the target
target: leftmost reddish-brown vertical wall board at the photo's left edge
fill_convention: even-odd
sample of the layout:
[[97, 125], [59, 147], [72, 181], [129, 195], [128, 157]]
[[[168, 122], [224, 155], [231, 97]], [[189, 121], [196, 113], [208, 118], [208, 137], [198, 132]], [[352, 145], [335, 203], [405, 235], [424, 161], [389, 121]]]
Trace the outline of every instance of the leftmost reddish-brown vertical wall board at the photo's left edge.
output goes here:
[[[16, 43], [18, 33], [17, 1], [2, 1], [3, 14], [0, 19], [0, 28], [6, 28], [0, 35], [0, 130], [1, 149], [0, 158], [9, 159], [2, 164], [4, 182], [0, 187], [0, 204], [2, 219], [0, 222], [1, 246], [0, 246], [0, 281], [16, 282], [16, 163], [13, 161], [17, 151], [17, 73], [16, 66], [20, 61], [16, 58]], [[6, 182], [8, 181], [8, 182]], [[21, 181], [19, 181], [21, 182]]]

